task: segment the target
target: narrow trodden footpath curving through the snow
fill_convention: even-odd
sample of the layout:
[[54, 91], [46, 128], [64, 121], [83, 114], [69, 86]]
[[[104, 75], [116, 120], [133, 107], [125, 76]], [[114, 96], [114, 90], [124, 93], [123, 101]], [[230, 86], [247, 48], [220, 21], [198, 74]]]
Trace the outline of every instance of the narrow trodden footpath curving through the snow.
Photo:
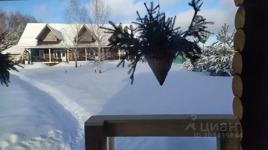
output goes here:
[[52, 96], [59, 104], [61, 104], [66, 110], [68, 110], [73, 117], [78, 121], [78, 129], [77, 133], [75, 133], [75, 145], [74, 149], [77, 149], [81, 145], [79, 143], [83, 143], [81, 140], [84, 139], [84, 121], [81, 119], [81, 116], [83, 115], [82, 110], [83, 108], [76, 104], [76, 102], [70, 100], [69, 98], [65, 97], [63, 93], [61, 93], [59, 90], [52, 88], [45, 83], [36, 81], [32, 78], [28, 78], [20, 73], [10, 71], [10, 73], [17, 75], [21, 80], [24, 80], [28, 82], [29, 84], [35, 86], [36, 88], [48, 93], [50, 96]]

